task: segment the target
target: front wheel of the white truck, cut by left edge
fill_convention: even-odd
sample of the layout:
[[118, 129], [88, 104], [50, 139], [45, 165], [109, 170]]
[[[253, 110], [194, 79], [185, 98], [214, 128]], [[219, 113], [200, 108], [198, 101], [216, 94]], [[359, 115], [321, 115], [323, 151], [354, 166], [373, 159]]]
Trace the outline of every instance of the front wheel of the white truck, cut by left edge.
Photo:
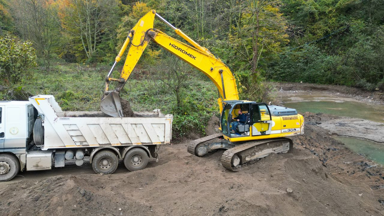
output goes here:
[[0, 181], [9, 181], [20, 171], [19, 160], [10, 154], [0, 154]]

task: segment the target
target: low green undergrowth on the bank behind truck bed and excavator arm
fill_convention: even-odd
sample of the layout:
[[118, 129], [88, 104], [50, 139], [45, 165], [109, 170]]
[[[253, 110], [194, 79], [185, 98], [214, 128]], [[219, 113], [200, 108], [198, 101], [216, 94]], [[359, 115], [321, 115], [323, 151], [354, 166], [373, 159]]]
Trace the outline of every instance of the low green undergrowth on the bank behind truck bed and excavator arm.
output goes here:
[[[54, 95], [64, 111], [99, 111], [109, 68], [108, 65], [56, 64], [49, 72], [36, 68], [33, 78], [23, 79], [19, 85], [32, 95]], [[114, 71], [114, 77], [119, 76], [119, 69]], [[134, 71], [121, 91], [121, 98], [130, 101], [133, 111], [161, 109], [163, 113], [173, 114], [174, 136], [204, 135], [207, 121], [218, 115], [214, 84], [199, 72], [194, 73], [182, 93], [182, 107], [177, 109], [174, 93], [152, 73]]]

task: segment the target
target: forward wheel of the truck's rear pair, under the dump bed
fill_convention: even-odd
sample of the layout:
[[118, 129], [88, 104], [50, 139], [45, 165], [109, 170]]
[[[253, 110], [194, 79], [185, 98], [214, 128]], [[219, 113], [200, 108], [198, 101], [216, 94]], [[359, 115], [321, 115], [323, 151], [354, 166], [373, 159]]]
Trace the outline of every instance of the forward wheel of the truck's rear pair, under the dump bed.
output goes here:
[[92, 159], [95, 173], [112, 174], [118, 168], [118, 156], [109, 150], [101, 150]]

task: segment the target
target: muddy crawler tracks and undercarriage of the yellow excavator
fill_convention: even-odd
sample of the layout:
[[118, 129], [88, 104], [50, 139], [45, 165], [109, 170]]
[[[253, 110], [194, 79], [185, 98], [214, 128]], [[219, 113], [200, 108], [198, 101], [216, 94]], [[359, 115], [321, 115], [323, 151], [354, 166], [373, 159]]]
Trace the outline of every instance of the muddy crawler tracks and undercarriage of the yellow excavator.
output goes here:
[[216, 133], [189, 143], [188, 152], [201, 157], [217, 149], [226, 149], [221, 164], [230, 171], [239, 171], [245, 164], [255, 163], [271, 153], [287, 153], [292, 148], [293, 142], [288, 138], [231, 142], [223, 139], [221, 133]]

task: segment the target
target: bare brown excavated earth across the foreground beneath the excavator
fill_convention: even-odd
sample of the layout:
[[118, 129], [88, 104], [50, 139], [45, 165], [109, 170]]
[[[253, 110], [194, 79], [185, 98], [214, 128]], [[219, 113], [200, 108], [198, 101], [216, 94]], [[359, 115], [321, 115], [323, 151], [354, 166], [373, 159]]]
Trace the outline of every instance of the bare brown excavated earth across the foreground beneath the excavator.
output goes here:
[[120, 163], [111, 175], [88, 174], [89, 164], [22, 172], [0, 183], [0, 215], [384, 215], [384, 168], [334, 140], [319, 126], [328, 117], [305, 113], [293, 151], [238, 172], [220, 164], [223, 150], [187, 153], [187, 139], [139, 171]]

